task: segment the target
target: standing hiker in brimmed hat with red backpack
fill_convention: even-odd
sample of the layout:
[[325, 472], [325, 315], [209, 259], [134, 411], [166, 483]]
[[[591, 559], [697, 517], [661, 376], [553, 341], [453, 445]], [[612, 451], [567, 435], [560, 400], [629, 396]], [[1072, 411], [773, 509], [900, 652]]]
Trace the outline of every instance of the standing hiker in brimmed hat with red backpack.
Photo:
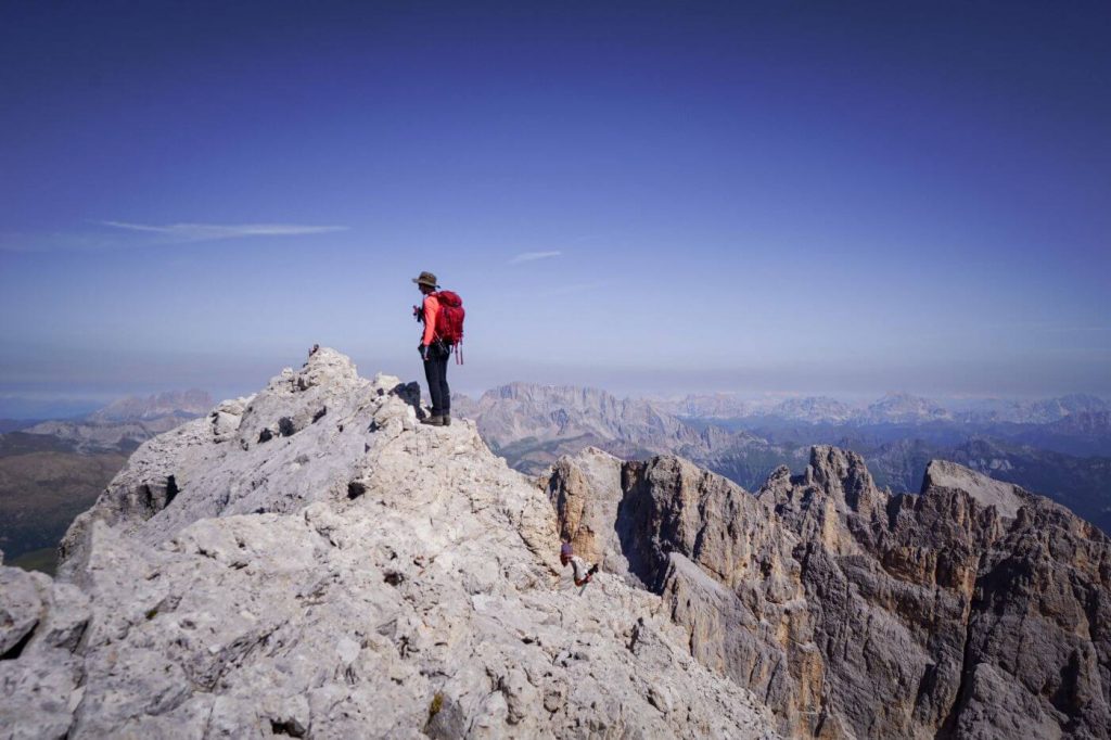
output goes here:
[[451, 424], [448, 358], [451, 356], [451, 347], [462, 341], [462, 301], [450, 291], [438, 293], [439, 286], [436, 283], [436, 276], [431, 272], [421, 272], [420, 277], [413, 278], [413, 282], [424, 296], [423, 303], [413, 307], [413, 316], [424, 324], [420, 346], [417, 349], [424, 360], [428, 394], [432, 399], [432, 413], [428, 418], [421, 419], [421, 423], [448, 427]]

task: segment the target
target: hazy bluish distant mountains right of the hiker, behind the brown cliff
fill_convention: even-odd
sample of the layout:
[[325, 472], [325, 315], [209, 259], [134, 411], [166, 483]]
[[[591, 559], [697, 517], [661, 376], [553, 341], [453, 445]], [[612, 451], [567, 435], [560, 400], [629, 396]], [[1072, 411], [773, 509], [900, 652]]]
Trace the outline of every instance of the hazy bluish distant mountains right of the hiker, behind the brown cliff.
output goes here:
[[624, 459], [679, 454], [752, 489], [780, 464], [800, 469], [812, 444], [837, 444], [864, 456], [877, 482], [893, 491], [919, 490], [931, 459], [953, 460], [1042, 491], [1111, 531], [1111, 404], [1092, 396], [958, 409], [909, 393], [852, 407], [827, 397], [668, 401], [511, 383], [452, 403], [491, 449], [530, 474], [597, 447]]

